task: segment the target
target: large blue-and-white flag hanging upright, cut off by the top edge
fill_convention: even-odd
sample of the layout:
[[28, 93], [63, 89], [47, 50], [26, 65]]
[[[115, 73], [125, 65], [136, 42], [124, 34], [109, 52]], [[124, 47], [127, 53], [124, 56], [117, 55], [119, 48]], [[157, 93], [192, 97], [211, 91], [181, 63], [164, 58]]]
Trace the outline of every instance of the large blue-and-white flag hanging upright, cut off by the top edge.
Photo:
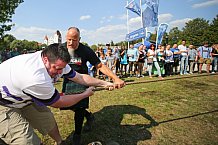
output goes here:
[[158, 26], [159, 0], [141, 0], [143, 27]]

